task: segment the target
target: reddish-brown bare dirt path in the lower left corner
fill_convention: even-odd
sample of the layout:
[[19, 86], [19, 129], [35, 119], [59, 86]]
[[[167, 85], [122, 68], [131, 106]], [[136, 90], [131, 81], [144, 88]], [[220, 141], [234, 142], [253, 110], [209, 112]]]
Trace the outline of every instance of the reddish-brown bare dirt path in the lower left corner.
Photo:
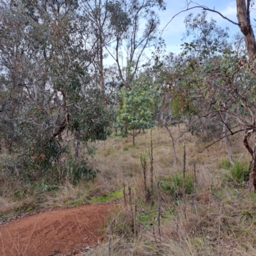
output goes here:
[[82, 205], [40, 212], [0, 226], [0, 255], [74, 255], [98, 244], [100, 227], [113, 204]]

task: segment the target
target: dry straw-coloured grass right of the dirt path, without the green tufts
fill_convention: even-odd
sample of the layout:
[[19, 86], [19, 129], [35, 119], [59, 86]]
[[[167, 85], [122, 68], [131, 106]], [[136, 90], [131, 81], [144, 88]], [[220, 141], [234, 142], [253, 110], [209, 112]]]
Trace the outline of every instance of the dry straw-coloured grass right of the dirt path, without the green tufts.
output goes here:
[[[173, 127], [172, 132], [177, 138], [181, 131]], [[227, 159], [221, 142], [198, 153], [207, 144], [197, 143], [191, 134], [186, 134], [177, 141], [179, 161], [173, 166], [172, 142], [164, 129], [156, 129], [153, 131], [155, 179], [172, 177], [182, 170], [183, 141], [187, 147], [186, 171], [193, 173], [196, 162], [195, 207], [192, 211], [191, 195], [187, 195], [185, 218], [182, 201], [179, 198], [175, 201], [161, 191], [161, 241], [157, 203], [154, 207], [145, 204], [141, 186], [140, 152], [150, 147], [149, 132], [138, 136], [135, 146], [130, 138], [110, 138], [99, 143], [95, 165], [102, 172], [100, 182], [111, 190], [120, 189], [124, 182], [130, 184], [132, 203], [121, 207], [109, 219], [107, 243], [83, 255], [256, 255], [256, 196], [228, 181], [229, 171], [219, 168]], [[239, 159], [244, 152], [242, 141], [237, 136], [231, 143], [234, 158]], [[249, 163], [247, 153], [241, 161]], [[140, 220], [141, 216], [148, 220]]]

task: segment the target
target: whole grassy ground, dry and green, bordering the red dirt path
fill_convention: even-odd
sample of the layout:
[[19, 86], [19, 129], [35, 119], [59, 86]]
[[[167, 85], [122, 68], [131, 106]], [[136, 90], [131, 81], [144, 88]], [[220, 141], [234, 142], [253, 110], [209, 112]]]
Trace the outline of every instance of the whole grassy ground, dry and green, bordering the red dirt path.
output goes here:
[[[182, 129], [172, 127], [172, 132], [177, 138]], [[231, 140], [234, 166], [228, 163], [221, 142], [198, 153], [207, 144], [198, 143], [194, 136], [186, 133], [177, 140], [178, 163], [174, 165], [168, 133], [159, 127], [152, 132], [152, 139], [154, 204], [145, 197], [140, 163], [140, 153], [145, 153], [149, 189], [150, 132], [147, 131], [136, 137], [136, 145], [132, 145], [131, 138], [116, 137], [97, 143], [97, 152], [90, 164], [100, 173], [93, 181], [81, 180], [77, 186], [67, 184], [49, 189], [28, 186], [27, 191], [6, 193], [0, 198], [1, 216], [106, 202], [123, 198], [125, 190], [126, 204], [121, 202], [109, 216], [106, 243], [84, 255], [256, 255], [256, 195], [244, 189], [250, 156], [245, 152], [241, 136], [236, 134]]]

